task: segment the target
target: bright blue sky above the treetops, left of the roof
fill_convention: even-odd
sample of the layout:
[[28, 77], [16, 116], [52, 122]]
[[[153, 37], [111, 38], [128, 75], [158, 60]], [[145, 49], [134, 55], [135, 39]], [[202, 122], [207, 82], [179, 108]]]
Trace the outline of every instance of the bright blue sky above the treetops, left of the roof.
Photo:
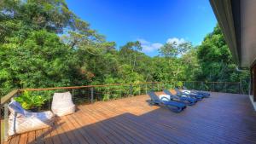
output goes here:
[[198, 45], [217, 24], [208, 0], [67, 0], [67, 5], [108, 41], [119, 47], [139, 40], [150, 56], [170, 41]]

